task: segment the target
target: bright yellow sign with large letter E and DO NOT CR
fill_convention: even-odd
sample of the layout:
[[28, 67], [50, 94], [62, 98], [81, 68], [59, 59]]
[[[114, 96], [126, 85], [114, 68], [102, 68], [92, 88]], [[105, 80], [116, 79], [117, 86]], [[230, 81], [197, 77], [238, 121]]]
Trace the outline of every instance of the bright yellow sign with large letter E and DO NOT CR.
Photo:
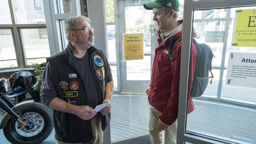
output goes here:
[[256, 9], [236, 10], [232, 46], [255, 47]]

